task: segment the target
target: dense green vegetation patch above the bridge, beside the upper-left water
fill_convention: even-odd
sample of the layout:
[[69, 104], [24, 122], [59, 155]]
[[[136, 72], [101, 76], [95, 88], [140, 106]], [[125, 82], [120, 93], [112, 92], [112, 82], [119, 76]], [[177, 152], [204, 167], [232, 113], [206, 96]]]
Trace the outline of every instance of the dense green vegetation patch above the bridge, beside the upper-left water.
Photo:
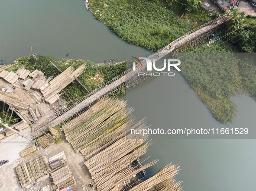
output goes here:
[[[197, 0], [183, 1], [184, 6], [165, 0], [91, 0], [88, 4], [94, 17], [123, 40], [148, 50], [159, 50], [198, 23], [211, 20], [200, 3], [195, 3]], [[185, 19], [180, 19], [183, 13], [187, 13]], [[191, 20], [190, 14], [196, 20]]]

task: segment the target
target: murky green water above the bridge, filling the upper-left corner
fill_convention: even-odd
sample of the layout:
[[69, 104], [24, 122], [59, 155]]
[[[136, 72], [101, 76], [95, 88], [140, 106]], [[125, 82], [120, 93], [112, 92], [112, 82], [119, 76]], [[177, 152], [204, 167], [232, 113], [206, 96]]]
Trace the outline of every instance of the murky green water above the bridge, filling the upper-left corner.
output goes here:
[[31, 49], [55, 60], [93, 62], [126, 59], [126, 52], [148, 51], [127, 44], [94, 19], [83, 0], [0, 0], [0, 60], [10, 63]]

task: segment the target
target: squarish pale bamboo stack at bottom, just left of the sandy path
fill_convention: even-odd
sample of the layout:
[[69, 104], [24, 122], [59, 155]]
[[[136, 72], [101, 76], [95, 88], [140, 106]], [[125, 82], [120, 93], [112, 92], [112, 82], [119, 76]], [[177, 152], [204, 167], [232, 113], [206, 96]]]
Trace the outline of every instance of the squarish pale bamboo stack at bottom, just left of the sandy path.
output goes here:
[[54, 184], [61, 190], [68, 186], [73, 186], [76, 184], [75, 178], [72, 175], [72, 172], [68, 168], [68, 165], [63, 166], [62, 168], [51, 173]]

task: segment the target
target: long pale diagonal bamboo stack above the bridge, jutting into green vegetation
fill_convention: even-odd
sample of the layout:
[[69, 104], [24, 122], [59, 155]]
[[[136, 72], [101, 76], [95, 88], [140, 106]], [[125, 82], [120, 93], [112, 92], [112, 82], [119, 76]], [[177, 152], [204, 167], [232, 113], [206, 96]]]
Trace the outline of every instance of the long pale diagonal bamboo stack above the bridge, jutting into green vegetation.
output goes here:
[[[50, 85], [42, 91], [46, 101], [52, 99], [52, 97], [58, 94], [62, 89], [75, 80], [79, 75], [84, 72], [86, 65], [83, 64], [74, 69], [72, 66], [68, 67], [64, 72], [59, 74], [56, 78], [53, 78], [49, 83]], [[75, 71], [74, 71], [75, 70]]]

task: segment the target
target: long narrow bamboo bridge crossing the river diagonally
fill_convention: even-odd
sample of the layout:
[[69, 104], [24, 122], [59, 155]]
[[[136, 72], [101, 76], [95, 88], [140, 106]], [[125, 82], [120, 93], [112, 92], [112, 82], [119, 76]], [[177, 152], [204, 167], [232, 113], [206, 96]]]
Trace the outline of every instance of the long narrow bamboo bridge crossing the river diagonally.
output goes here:
[[[151, 60], [155, 59], [157, 61], [167, 56], [169, 53], [178, 53], [185, 51], [186, 49], [193, 47], [194, 45], [208, 38], [212, 31], [214, 31], [217, 27], [222, 25], [228, 19], [229, 17], [224, 15], [219, 19], [215, 19], [211, 22], [201, 25], [200, 27], [195, 28], [194, 30], [188, 32], [187, 34], [173, 41], [172, 43], [166, 45], [162, 49], [158, 50], [156, 53], [148, 56], [148, 58]], [[33, 129], [32, 137], [35, 138], [39, 135], [42, 135], [42, 133], [48, 130], [48, 128], [60, 125], [74, 115], [79, 115], [79, 112], [81, 113], [86, 110], [88, 107], [91, 106], [92, 103], [94, 103], [94, 101], [99, 100], [100, 97], [113, 94], [114, 92], [120, 92], [120, 87], [127, 87], [126, 82], [131, 81], [132, 83], [137, 83], [139, 80], [137, 76], [138, 72], [146, 72], [146, 61], [143, 60], [141, 63], [143, 67], [138, 66], [136, 67], [135, 71], [133, 71], [133, 69], [127, 70], [122, 75], [114, 78], [112, 81], [108, 82], [104, 86], [83, 97], [73, 106], [67, 108], [65, 110], [65, 113], [59, 115], [56, 119], [48, 122], [47, 124], [40, 125], [40, 127], [38, 128]], [[142, 78], [145, 79], [145, 76], [141, 77], [140, 79]]]

